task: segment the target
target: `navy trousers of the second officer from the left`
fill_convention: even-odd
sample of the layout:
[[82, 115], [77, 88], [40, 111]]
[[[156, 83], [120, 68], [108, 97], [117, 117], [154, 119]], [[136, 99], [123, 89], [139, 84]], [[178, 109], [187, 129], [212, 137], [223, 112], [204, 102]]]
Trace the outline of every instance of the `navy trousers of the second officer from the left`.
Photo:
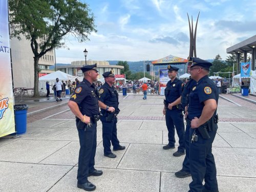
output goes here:
[[[119, 140], [117, 139], [117, 118], [114, 117], [112, 121], [107, 122], [106, 117], [102, 116], [100, 118], [102, 122], [102, 139], [103, 139], [103, 147], [104, 147], [104, 154], [108, 155], [111, 152], [111, 143], [113, 145], [113, 148], [117, 149], [119, 148]], [[111, 143], [110, 143], [111, 141]]]

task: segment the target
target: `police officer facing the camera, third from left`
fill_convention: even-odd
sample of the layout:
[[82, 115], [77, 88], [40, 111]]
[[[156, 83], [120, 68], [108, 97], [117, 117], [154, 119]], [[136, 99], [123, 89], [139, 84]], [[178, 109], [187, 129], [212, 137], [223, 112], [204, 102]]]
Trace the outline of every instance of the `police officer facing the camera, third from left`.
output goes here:
[[181, 93], [182, 87], [184, 86], [183, 82], [177, 79], [177, 73], [179, 68], [168, 66], [168, 77], [170, 80], [166, 84], [164, 90], [165, 95], [165, 106], [163, 109], [163, 114], [165, 115], [166, 126], [168, 129], [168, 144], [163, 146], [164, 150], [169, 148], [175, 148], [175, 128], [179, 137], [178, 151], [173, 155], [179, 157], [185, 154], [184, 146], [184, 120], [182, 114], [181, 106]]

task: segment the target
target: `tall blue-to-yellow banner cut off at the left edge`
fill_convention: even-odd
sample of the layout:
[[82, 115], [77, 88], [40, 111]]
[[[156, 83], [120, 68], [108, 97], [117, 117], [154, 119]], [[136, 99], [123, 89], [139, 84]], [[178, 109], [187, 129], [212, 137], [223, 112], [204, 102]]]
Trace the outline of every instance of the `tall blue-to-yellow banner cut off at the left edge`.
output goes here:
[[15, 132], [7, 0], [0, 1], [0, 137]]

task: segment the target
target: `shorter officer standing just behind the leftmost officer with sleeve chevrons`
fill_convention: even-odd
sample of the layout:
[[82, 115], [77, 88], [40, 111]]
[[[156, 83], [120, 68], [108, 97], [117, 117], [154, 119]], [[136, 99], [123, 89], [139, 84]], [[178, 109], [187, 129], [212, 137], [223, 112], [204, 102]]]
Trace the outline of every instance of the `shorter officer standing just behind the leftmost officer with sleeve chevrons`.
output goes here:
[[[105, 72], [102, 74], [105, 79], [105, 83], [101, 86], [99, 93], [99, 106], [101, 108], [102, 117], [102, 138], [104, 147], [104, 156], [109, 158], [116, 158], [116, 155], [111, 151], [111, 143], [113, 145], [113, 151], [124, 150], [125, 146], [119, 144], [117, 139], [117, 114], [118, 109], [118, 93], [115, 87], [115, 74], [114, 71]], [[110, 143], [111, 141], [111, 143]]]

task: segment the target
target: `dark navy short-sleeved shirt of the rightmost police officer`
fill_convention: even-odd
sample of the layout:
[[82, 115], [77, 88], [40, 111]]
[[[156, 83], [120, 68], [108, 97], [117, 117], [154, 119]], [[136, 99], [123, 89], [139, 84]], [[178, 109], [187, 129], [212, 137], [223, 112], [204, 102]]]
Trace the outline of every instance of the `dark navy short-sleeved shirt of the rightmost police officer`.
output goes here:
[[[196, 86], [192, 88], [188, 96], [188, 119], [192, 120], [194, 117], [200, 117], [204, 108], [204, 101], [208, 99], [215, 99], [218, 104], [219, 93], [214, 82], [206, 75], [201, 78]], [[216, 115], [216, 112], [215, 112]]]

